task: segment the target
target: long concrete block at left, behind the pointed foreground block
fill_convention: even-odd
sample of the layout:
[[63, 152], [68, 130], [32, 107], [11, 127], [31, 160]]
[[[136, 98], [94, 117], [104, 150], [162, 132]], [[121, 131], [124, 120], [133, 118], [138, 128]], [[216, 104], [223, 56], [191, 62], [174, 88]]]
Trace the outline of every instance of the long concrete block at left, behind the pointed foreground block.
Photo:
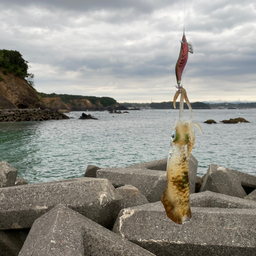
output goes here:
[[0, 189], [0, 230], [30, 228], [62, 203], [111, 228], [122, 202], [108, 180], [78, 178]]

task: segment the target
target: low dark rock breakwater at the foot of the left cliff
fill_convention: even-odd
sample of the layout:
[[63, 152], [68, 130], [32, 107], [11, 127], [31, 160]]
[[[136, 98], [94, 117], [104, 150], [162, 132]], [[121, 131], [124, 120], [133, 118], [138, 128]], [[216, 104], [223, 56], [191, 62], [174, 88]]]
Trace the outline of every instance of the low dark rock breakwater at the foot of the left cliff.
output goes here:
[[0, 122], [47, 121], [69, 119], [52, 109], [0, 109]]

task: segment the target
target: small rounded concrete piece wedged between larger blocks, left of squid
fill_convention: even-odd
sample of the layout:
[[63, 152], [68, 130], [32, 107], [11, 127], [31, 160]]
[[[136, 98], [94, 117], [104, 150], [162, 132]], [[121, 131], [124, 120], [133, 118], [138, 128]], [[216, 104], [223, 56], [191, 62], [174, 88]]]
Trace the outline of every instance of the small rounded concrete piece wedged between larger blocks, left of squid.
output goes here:
[[119, 187], [116, 191], [123, 197], [122, 208], [148, 204], [147, 198], [132, 185]]

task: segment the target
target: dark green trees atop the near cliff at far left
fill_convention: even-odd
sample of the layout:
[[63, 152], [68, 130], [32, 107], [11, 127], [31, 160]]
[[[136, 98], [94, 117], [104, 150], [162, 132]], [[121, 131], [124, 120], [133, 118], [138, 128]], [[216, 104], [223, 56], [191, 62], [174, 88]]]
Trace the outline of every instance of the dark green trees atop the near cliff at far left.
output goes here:
[[28, 61], [18, 51], [0, 50], [0, 67], [3, 68], [4, 75], [7, 72], [14, 73], [24, 78], [30, 86], [34, 86], [34, 74], [28, 73]]

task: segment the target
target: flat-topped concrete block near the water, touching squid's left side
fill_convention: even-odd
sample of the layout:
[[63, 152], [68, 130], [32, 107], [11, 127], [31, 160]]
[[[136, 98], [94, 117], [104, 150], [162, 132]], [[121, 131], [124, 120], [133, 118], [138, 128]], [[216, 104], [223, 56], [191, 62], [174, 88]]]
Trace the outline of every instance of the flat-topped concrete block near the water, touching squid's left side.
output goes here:
[[166, 171], [135, 168], [105, 168], [97, 171], [97, 178], [108, 179], [114, 187], [132, 185], [146, 196], [149, 202], [161, 200], [166, 188]]

